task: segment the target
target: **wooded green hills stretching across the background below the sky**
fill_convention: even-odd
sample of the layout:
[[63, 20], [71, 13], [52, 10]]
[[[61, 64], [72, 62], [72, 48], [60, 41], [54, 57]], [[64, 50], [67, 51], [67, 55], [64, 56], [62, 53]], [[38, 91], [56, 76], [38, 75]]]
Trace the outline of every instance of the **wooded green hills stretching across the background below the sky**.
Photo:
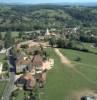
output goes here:
[[[73, 4], [72, 4], [73, 5]], [[92, 4], [91, 4], [92, 5]], [[67, 4], [1, 5], [0, 31], [97, 27], [97, 7]]]

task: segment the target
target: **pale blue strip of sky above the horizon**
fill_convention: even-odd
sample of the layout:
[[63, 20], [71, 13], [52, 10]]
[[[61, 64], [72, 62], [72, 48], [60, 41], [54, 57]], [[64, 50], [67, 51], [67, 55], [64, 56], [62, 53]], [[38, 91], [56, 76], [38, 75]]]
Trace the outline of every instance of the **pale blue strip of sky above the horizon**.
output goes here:
[[29, 4], [39, 4], [39, 3], [61, 3], [61, 2], [97, 2], [97, 0], [0, 0], [0, 3], [29, 3]]

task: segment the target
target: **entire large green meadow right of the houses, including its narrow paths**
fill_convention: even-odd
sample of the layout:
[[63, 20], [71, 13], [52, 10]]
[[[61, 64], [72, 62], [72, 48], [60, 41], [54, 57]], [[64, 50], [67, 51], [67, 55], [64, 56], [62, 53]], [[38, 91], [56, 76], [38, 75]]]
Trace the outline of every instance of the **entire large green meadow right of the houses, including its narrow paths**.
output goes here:
[[96, 95], [97, 55], [60, 49], [71, 61], [73, 69], [61, 63], [54, 49], [49, 48], [47, 51], [55, 60], [55, 65], [48, 73], [45, 88], [40, 92], [41, 100], [80, 100], [83, 95]]

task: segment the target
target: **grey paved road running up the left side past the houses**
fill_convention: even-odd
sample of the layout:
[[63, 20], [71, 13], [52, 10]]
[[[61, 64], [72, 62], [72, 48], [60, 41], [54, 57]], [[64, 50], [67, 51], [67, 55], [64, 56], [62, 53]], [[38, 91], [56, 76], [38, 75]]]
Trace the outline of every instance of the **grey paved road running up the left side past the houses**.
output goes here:
[[[10, 50], [10, 49], [8, 49], [8, 50]], [[8, 55], [8, 56], [10, 56], [10, 55]], [[8, 64], [9, 64], [10, 68], [13, 67], [10, 65], [9, 61], [8, 61]], [[9, 81], [8, 81], [8, 83], [5, 87], [4, 93], [2, 95], [2, 100], [10, 100], [9, 98], [10, 98], [11, 92], [14, 89], [14, 80], [15, 80], [15, 73], [9, 71]]]

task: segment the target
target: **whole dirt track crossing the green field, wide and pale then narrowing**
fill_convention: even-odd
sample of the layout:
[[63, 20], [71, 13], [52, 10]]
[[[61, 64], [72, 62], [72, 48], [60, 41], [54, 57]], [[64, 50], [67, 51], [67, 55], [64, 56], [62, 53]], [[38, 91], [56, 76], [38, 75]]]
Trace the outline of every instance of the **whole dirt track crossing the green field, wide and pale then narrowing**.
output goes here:
[[78, 69], [76, 69], [74, 67], [74, 65], [71, 63], [71, 61], [65, 57], [60, 51], [59, 49], [55, 48], [55, 53], [60, 57], [61, 62], [66, 65], [67, 67], [71, 68], [73, 71], [75, 71], [76, 73], [78, 73], [79, 75], [81, 75], [84, 79], [86, 79], [88, 82], [90, 82], [91, 84], [95, 84], [97, 85], [96, 81], [91, 80], [90, 78], [88, 78], [84, 73], [80, 72]]

